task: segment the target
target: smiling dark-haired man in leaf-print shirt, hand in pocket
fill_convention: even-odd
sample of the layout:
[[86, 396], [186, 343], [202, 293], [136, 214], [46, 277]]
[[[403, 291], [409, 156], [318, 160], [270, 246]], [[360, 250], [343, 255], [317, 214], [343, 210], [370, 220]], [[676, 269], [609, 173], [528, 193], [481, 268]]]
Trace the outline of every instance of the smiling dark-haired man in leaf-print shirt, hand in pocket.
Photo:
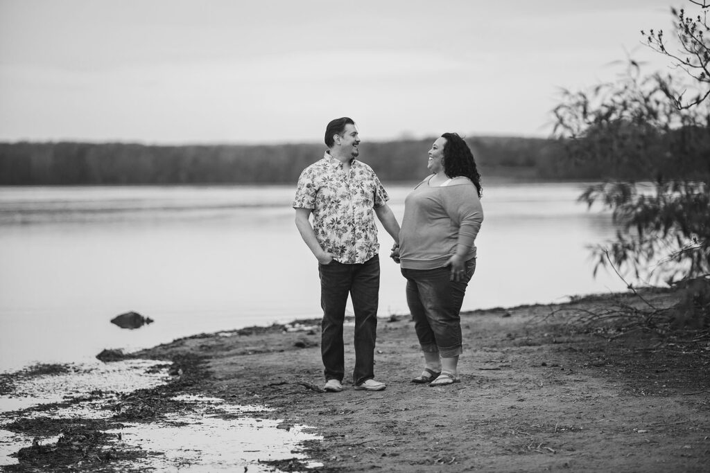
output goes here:
[[350, 294], [355, 311], [353, 384], [356, 390], [381, 391], [386, 386], [375, 381], [373, 373], [380, 289], [379, 244], [373, 213], [395, 245], [399, 224], [375, 172], [355, 159], [360, 144], [355, 122], [343, 117], [328, 123], [325, 144], [328, 150], [323, 159], [301, 173], [293, 200], [298, 231], [318, 260], [324, 389], [343, 389], [343, 322]]

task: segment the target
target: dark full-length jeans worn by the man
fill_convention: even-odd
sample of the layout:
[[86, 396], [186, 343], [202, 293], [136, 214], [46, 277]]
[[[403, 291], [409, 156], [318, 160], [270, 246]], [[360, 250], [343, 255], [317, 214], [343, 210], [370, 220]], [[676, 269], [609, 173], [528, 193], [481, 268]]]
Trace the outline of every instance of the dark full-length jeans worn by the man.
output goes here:
[[348, 294], [355, 311], [355, 369], [353, 382], [361, 384], [375, 377], [377, 304], [380, 290], [380, 257], [362, 264], [333, 261], [318, 265], [320, 305], [323, 308], [321, 355], [325, 379], [342, 382], [345, 374], [343, 322]]

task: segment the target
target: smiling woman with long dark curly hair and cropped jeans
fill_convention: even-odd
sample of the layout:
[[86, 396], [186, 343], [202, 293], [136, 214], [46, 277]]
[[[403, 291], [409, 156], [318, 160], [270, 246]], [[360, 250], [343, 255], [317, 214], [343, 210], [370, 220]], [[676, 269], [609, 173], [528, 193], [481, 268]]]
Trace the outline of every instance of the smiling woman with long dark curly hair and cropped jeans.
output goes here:
[[474, 241], [484, 214], [481, 176], [463, 138], [437, 138], [427, 169], [432, 175], [405, 199], [393, 257], [407, 278], [407, 303], [424, 353], [424, 371], [412, 382], [444, 386], [459, 382], [459, 312], [476, 269]]

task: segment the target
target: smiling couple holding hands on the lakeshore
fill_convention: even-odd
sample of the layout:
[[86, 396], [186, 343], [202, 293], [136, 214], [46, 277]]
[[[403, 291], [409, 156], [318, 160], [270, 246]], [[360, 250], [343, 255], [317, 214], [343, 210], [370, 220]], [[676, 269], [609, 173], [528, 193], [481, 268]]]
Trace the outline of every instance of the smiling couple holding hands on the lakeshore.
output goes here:
[[456, 133], [437, 138], [429, 150], [430, 175], [406, 197], [400, 228], [375, 172], [356, 160], [359, 143], [351, 118], [328, 123], [328, 150], [301, 173], [293, 201], [296, 226], [319, 263], [324, 389], [343, 389], [348, 296], [355, 313], [354, 389], [386, 388], [374, 379], [380, 286], [375, 215], [395, 241], [390, 256], [407, 280], [407, 304], [424, 355], [424, 369], [412, 382], [459, 382], [459, 312], [476, 269], [474, 242], [484, 217], [474, 157]]

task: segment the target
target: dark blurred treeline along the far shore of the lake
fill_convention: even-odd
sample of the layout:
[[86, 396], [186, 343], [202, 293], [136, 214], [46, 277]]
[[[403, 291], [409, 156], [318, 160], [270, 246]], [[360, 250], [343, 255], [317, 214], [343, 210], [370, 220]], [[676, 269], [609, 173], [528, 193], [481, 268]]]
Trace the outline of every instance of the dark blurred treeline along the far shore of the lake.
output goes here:
[[[364, 142], [360, 159], [386, 182], [427, 174], [426, 158], [435, 137]], [[472, 137], [484, 180], [600, 179], [608, 167], [573, 163], [565, 147], [546, 138]], [[662, 155], [658, 148], [659, 159]], [[319, 160], [325, 145], [182, 145], [130, 143], [0, 143], [0, 184], [229, 184], [293, 183]]]

